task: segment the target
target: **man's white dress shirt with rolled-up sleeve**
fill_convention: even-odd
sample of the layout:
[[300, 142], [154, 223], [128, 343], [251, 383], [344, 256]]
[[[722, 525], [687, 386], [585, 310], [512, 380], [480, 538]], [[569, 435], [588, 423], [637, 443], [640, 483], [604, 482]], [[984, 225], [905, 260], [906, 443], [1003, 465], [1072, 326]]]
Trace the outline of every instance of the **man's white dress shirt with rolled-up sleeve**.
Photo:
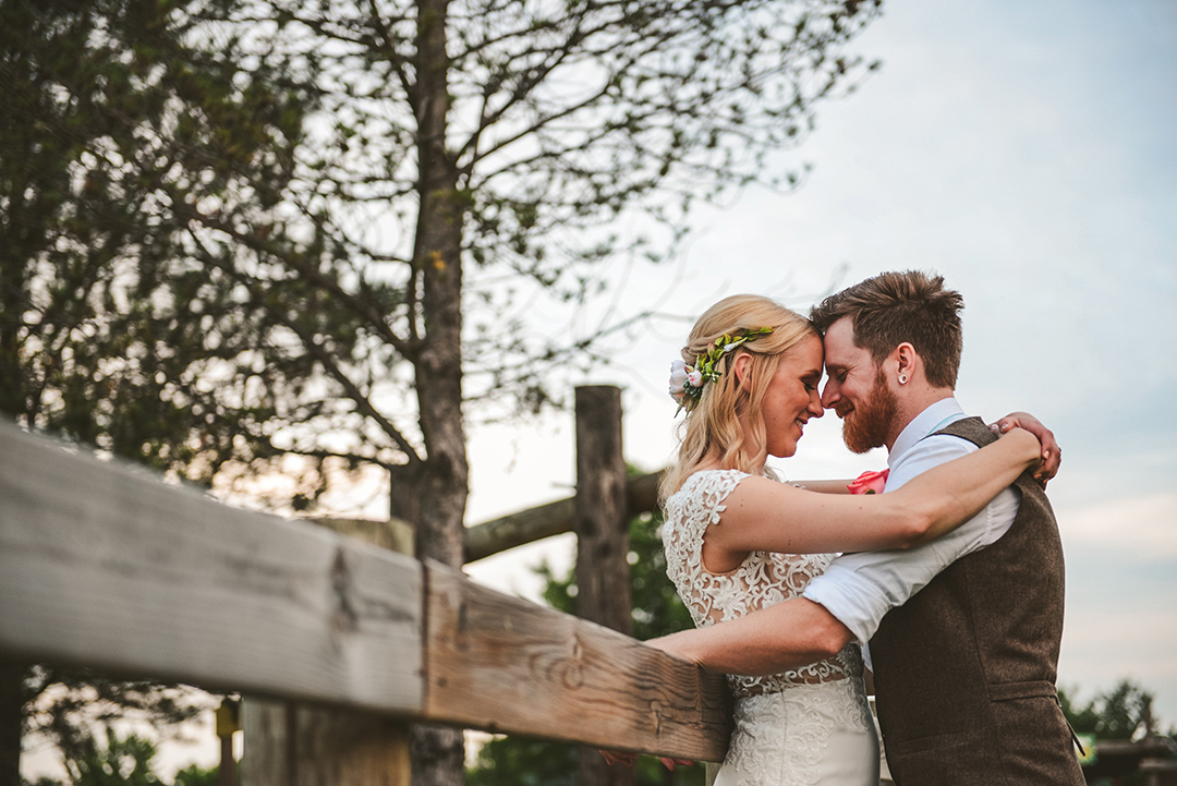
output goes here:
[[[929, 437], [964, 417], [957, 400], [949, 398], [931, 405], [907, 424], [887, 457], [891, 472], [884, 493], [935, 466], [978, 449], [958, 437]], [[859, 644], [865, 644], [875, 635], [884, 614], [906, 602], [953, 561], [997, 542], [1009, 532], [1019, 501], [1019, 493], [1010, 487], [980, 513], [929, 544], [906, 551], [838, 557], [803, 594], [825, 606], [851, 630]]]

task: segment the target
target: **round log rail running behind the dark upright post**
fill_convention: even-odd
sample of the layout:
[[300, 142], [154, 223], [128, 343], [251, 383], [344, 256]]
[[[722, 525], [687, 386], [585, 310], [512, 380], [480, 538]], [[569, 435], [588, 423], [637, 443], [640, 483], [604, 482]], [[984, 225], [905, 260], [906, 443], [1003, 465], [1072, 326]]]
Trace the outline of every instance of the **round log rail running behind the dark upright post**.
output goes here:
[[[626, 514], [637, 515], [658, 509], [660, 472], [629, 478], [625, 481]], [[467, 562], [485, 559], [516, 546], [572, 532], [576, 521], [573, 497], [556, 500], [518, 513], [467, 527], [464, 552]]]

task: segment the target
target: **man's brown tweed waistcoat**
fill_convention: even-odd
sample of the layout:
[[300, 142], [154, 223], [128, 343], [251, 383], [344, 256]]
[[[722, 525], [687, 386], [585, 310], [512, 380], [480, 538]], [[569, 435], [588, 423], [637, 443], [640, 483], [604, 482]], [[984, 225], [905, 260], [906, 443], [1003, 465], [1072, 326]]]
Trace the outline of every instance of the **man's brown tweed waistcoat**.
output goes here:
[[[977, 418], [940, 434], [996, 437]], [[1082, 786], [1055, 675], [1063, 635], [1063, 547], [1029, 474], [996, 544], [960, 558], [871, 639], [879, 724], [898, 786]]]

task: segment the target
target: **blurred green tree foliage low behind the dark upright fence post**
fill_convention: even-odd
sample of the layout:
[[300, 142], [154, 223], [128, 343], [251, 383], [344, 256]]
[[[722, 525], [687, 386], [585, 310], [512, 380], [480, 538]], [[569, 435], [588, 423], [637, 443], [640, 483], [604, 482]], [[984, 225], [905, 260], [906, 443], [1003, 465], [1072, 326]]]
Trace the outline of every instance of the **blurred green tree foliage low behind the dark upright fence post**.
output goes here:
[[[633, 635], [641, 640], [694, 627], [691, 613], [666, 578], [661, 524], [661, 514], [650, 513], [643, 513], [630, 522]], [[574, 613], [574, 573], [570, 571], [564, 577], [557, 577], [546, 562], [536, 568], [536, 573], [546, 582], [544, 600], [558, 611]], [[466, 782], [468, 786], [576, 786], [577, 753], [578, 748], [573, 745], [497, 738], [481, 747]], [[679, 767], [671, 773], [657, 759], [641, 757], [634, 766], [638, 786], [703, 784], [701, 765]]]

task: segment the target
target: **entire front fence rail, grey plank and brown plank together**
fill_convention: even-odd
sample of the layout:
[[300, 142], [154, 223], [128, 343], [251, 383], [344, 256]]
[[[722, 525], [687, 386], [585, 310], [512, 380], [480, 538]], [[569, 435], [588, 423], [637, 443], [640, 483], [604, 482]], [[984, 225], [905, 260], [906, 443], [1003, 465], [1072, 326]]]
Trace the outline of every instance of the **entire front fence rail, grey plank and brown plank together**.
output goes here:
[[435, 562], [4, 424], [0, 655], [723, 759], [723, 678]]

